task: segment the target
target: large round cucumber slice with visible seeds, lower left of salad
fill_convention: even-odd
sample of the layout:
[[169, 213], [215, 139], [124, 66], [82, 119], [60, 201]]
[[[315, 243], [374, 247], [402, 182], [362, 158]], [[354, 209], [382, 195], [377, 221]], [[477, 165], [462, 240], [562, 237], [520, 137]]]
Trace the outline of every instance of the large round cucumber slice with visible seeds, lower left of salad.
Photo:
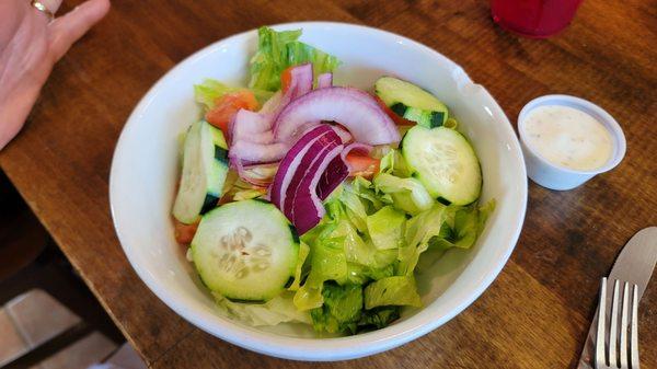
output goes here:
[[299, 237], [273, 204], [242, 200], [206, 214], [192, 257], [203, 282], [232, 300], [267, 301], [295, 276]]

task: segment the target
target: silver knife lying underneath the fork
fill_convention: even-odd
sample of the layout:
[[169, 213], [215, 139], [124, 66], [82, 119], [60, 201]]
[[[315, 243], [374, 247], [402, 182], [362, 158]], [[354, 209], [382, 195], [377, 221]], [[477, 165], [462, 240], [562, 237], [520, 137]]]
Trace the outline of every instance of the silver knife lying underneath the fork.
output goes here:
[[[655, 269], [655, 264], [657, 264], [657, 227], [648, 227], [634, 234], [613, 264], [607, 284], [607, 305], [611, 304], [613, 280], [615, 279], [636, 284], [638, 286], [638, 300], [641, 300]], [[593, 322], [584, 344], [578, 369], [593, 368], [591, 355], [595, 353], [593, 342], [597, 322], [598, 313], [593, 316]]]

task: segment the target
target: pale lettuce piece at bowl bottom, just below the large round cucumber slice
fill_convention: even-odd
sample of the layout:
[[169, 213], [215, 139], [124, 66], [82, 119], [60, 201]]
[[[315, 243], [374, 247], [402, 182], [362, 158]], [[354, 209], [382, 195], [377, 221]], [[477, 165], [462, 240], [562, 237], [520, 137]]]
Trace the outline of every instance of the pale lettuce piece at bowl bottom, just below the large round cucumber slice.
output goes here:
[[265, 303], [234, 302], [214, 293], [217, 305], [228, 316], [237, 318], [249, 325], [277, 325], [286, 322], [311, 323], [308, 311], [299, 311], [292, 303], [291, 292], [283, 292]]

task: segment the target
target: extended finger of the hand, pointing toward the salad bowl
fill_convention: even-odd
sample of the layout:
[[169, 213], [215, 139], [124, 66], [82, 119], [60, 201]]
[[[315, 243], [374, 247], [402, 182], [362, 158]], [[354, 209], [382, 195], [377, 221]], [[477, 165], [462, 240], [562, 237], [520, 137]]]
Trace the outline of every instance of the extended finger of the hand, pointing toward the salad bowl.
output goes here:
[[57, 18], [49, 25], [50, 53], [54, 61], [82, 37], [110, 10], [110, 0], [88, 0], [66, 15]]

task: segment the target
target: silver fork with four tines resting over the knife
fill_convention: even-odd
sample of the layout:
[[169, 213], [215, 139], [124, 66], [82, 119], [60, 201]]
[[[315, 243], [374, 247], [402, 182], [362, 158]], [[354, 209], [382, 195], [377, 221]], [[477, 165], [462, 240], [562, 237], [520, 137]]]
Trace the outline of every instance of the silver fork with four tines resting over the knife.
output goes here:
[[[632, 285], [632, 301], [629, 303], [631, 285], [626, 281], [623, 282], [623, 301], [620, 312], [621, 325], [619, 327], [620, 281], [616, 279], [613, 284], [611, 312], [609, 315], [607, 315], [607, 278], [602, 278], [601, 285], [600, 304], [598, 308], [598, 331], [596, 334], [596, 369], [639, 369], [637, 327], [638, 286]], [[632, 314], [630, 326], [627, 326], [629, 314]], [[610, 321], [609, 334], [606, 334], [608, 320]], [[630, 330], [630, 343], [627, 343], [627, 330]], [[609, 336], [608, 344], [606, 343], [607, 336]]]

